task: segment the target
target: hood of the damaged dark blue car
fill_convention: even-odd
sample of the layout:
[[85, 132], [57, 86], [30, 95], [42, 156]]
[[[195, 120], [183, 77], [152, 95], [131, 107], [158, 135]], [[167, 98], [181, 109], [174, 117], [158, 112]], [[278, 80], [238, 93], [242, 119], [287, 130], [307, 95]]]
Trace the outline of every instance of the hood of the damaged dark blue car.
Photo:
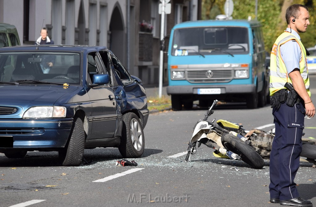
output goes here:
[[60, 97], [77, 89], [76, 86], [0, 85], [0, 105], [53, 106]]

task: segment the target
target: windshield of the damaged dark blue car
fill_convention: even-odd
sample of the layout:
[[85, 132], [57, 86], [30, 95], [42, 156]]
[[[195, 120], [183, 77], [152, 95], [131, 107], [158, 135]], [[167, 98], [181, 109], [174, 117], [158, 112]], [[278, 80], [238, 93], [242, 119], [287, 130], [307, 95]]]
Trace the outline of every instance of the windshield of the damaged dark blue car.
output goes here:
[[79, 53], [1, 53], [0, 82], [80, 84]]

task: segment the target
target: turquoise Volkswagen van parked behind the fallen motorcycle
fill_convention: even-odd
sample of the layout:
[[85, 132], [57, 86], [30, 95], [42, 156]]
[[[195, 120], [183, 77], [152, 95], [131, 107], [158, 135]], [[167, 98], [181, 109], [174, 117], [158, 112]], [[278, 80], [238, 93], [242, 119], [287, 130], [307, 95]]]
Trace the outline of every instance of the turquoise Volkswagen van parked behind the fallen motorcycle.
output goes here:
[[188, 21], [171, 31], [167, 94], [173, 110], [190, 109], [196, 100], [209, 106], [214, 99], [263, 107], [268, 73], [258, 21]]

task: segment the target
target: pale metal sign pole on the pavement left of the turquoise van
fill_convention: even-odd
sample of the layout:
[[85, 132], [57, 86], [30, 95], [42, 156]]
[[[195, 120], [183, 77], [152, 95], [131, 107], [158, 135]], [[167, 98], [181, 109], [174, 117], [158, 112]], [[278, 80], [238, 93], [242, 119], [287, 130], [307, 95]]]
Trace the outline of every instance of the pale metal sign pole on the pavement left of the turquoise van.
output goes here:
[[[165, 35], [165, 0], [161, 1], [161, 27], [160, 27], [160, 42], [162, 42]], [[162, 73], [163, 73], [163, 51], [160, 50], [159, 57], [159, 98], [162, 96]]]

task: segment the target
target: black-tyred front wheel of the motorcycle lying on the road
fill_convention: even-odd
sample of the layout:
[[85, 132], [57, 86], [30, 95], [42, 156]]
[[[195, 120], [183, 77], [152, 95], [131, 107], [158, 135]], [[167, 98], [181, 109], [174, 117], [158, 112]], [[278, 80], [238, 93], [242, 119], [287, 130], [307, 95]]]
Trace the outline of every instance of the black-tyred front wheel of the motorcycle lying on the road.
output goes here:
[[231, 134], [222, 135], [223, 146], [241, 157], [241, 160], [255, 169], [262, 169], [264, 160], [258, 152], [246, 142]]

